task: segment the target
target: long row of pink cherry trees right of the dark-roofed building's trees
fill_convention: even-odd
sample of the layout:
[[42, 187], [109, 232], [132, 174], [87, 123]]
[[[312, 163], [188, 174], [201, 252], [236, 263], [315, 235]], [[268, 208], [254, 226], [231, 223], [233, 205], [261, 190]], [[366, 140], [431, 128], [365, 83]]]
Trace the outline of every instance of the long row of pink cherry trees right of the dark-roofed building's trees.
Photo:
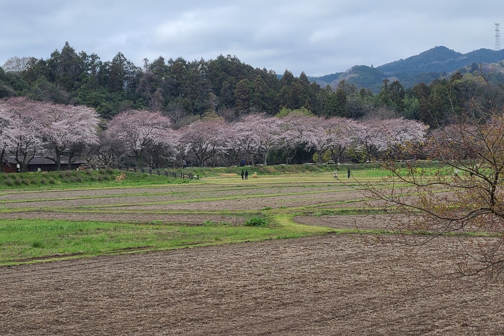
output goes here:
[[[298, 150], [317, 154], [318, 163], [330, 151], [336, 160], [352, 149], [369, 158], [393, 153], [407, 142], [419, 142], [428, 126], [415, 120], [390, 119], [357, 122], [346, 118], [306, 115], [244, 116], [227, 123], [221, 118], [198, 120], [177, 130], [159, 112], [127, 110], [115, 116], [91, 151], [91, 157], [110, 164], [130, 157], [137, 165], [163, 167], [185, 159], [198, 166], [268, 164], [272, 151], [290, 158]], [[114, 153], [115, 152], [115, 153]]]

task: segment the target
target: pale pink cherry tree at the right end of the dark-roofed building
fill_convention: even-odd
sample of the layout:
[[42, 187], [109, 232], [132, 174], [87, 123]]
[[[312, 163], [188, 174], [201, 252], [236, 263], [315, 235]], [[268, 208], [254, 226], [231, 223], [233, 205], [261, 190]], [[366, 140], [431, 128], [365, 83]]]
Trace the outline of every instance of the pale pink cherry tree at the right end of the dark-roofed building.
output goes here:
[[72, 157], [89, 145], [96, 144], [98, 114], [86, 106], [38, 103], [41, 109], [41, 133], [47, 149], [46, 158], [54, 161], [61, 170], [61, 156]]

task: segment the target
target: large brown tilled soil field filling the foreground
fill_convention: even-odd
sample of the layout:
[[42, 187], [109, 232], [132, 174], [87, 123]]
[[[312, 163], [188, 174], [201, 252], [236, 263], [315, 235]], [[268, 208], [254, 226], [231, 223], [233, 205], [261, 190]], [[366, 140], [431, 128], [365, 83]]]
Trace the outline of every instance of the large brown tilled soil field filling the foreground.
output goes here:
[[7, 267], [0, 334], [504, 333], [502, 284], [430, 282], [449, 264], [413, 252], [339, 235]]

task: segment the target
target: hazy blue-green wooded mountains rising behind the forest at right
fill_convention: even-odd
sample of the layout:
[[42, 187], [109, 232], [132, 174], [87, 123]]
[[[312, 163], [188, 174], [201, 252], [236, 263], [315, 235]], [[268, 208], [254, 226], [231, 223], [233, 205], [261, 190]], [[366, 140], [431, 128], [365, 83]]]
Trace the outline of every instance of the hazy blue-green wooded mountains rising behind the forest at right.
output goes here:
[[369, 88], [377, 92], [382, 87], [383, 80], [399, 80], [408, 88], [420, 82], [429, 84], [442, 75], [450, 74], [457, 69], [473, 66], [479, 63], [498, 63], [504, 60], [504, 49], [478, 49], [465, 54], [445, 46], [424, 51], [418, 55], [399, 59], [391, 63], [373, 68], [366, 65], [355, 65], [344, 73], [336, 73], [322, 77], [308, 77], [322, 87], [336, 87], [342, 80], [358, 87]]

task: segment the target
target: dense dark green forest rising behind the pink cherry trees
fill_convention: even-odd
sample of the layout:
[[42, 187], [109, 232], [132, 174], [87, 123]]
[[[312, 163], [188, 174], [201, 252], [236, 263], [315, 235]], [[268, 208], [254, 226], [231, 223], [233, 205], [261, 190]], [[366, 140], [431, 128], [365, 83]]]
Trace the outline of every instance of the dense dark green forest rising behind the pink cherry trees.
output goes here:
[[462, 112], [474, 97], [483, 107], [500, 103], [502, 85], [489, 84], [479, 71], [475, 66], [408, 89], [383, 78], [373, 94], [346, 81], [321, 87], [288, 70], [278, 79], [275, 72], [254, 69], [236, 56], [193, 61], [160, 56], [137, 66], [120, 52], [103, 61], [94, 53], [77, 53], [67, 42], [47, 59], [10, 58], [0, 69], [0, 98], [85, 105], [104, 120], [128, 109], [156, 110], [174, 127], [205, 115], [234, 121], [249, 113], [275, 115], [283, 108], [353, 119], [405, 117], [435, 126], [436, 120]]

